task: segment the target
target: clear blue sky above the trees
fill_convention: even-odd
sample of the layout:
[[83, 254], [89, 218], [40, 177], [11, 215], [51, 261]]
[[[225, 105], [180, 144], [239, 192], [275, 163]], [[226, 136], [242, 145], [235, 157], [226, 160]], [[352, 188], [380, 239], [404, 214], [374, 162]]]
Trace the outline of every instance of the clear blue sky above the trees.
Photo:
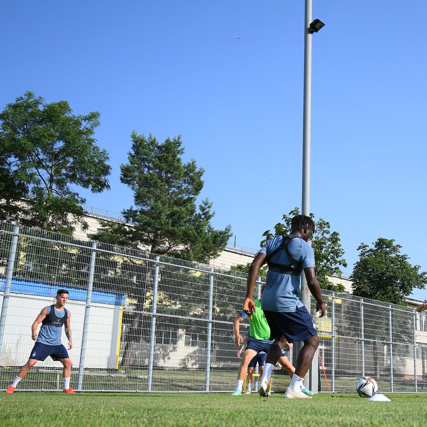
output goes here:
[[[393, 238], [427, 270], [427, 2], [313, 0], [310, 211], [357, 246]], [[130, 133], [182, 135], [206, 172], [213, 225], [257, 248], [301, 206], [304, 1], [4, 2], [0, 108], [25, 91], [101, 113], [120, 212]], [[234, 239], [234, 237], [233, 237]], [[427, 298], [427, 291], [415, 297]]]

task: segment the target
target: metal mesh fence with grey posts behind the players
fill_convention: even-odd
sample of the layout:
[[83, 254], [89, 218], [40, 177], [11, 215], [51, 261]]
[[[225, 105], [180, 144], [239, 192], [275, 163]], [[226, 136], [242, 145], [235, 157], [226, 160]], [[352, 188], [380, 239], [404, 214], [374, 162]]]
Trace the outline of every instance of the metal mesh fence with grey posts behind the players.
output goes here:
[[[258, 278], [255, 296], [262, 283]], [[234, 389], [240, 359], [232, 321], [246, 294], [246, 274], [8, 223], [0, 223], [0, 389], [28, 359], [32, 322], [54, 304], [59, 288], [70, 292], [73, 389]], [[353, 392], [363, 374], [383, 392], [425, 389], [423, 313], [350, 294], [323, 295], [327, 316], [317, 318], [314, 305], [311, 311], [331, 391]], [[243, 335], [248, 325], [241, 329]], [[38, 362], [18, 390], [61, 389], [60, 368], [50, 358]], [[275, 392], [290, 381], [283, 369], [273, 378]]]

